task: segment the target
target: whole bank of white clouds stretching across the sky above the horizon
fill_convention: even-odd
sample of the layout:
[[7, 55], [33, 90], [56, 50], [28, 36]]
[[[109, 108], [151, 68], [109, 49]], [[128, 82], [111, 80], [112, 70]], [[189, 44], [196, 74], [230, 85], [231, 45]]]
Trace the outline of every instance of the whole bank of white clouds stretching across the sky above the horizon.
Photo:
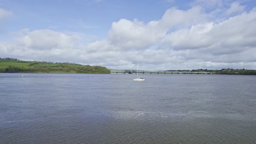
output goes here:
[[[203, 2], [187, 10], [167, 9], [159, 20], [147, 23], [120, 19], [106, 38], [89, 44], [79, 34], [23, 29], [16, 39], [0, 41], [0, 57], [109, 69], [136, 69], [137, 62], [144, 70], [256, 69], [256, 9], [211, 1], [207, 7], [217, 8], [206, 12]], [[0, 18], [4, 15], [8, 13], [0, 9]]]

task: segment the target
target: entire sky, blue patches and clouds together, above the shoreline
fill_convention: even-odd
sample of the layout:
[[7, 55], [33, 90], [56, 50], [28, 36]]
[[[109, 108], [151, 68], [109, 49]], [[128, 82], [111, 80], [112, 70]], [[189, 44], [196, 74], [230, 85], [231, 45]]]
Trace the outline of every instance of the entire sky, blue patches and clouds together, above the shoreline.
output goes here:
[[0, 57], [109, 69], [256, 69], [256, 1], [0, 0]]

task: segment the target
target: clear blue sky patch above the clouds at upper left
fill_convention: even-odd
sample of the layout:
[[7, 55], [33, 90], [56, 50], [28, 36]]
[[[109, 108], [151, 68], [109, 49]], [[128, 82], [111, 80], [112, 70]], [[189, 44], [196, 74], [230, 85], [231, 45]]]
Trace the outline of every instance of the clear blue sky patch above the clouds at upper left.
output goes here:
[[22, 28], [49, 28], [55, 31], [98, 35], [103, 38], [114, 21], [158, 20], [172, 4], [167, 1], [118, 0], [2, 1], [2, 8], [15, 14], [8, 23], [5, 23], [6, 32], [19, 31]]

